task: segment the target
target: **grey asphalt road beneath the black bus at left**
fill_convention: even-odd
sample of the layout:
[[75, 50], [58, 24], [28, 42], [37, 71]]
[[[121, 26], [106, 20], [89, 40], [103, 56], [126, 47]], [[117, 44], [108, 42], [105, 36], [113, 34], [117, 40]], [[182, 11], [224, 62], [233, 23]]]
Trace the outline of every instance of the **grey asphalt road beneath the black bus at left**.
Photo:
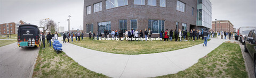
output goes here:
[[0, 77], [29, 77], [38, 51], [39, 47], [20, 48], [17, 42], [0, 47]]

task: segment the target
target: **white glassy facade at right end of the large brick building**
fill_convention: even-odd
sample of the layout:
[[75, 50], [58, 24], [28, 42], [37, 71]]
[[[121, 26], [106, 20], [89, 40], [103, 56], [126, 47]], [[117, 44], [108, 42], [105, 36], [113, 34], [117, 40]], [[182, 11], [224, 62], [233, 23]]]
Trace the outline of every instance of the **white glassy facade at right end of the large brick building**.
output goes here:
[[196, 25], [201, 30], [212, 28], [212, 3], [210, 0], [197, 0]]

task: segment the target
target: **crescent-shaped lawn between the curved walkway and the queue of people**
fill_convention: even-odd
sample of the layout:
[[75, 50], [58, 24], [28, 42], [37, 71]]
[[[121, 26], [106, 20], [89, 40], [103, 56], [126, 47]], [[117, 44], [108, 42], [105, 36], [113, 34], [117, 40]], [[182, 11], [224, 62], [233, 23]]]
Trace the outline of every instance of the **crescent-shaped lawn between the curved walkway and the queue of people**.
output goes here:
[[[155, 40], [155, 41], [115, 41], [115, 40], [89, 40], [89, 38], [84, 38], [81, 41], [75, 41], [70, 43], [93, 49], [98, 51], [103, 51], [107, 53], [115, 53], [115, 54], [128, 54], [128, 55], [137, 55], [137, 54], [151, 54], [151, 53], [161, 53], [165, 51], [172, 51], [182, 48], [191, 47], [194, 45], [202, 44], [204, 40], [199, 39], [195, 41], [178, 41], [174, 42], [164, 42]], [[66, 40], [67, 41], [67, 40]]]

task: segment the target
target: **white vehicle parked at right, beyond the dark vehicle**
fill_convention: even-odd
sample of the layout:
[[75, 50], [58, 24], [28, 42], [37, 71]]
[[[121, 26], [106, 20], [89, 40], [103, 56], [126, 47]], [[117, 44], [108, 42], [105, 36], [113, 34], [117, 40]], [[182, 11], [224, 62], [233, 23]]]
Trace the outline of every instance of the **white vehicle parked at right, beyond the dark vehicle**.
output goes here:
[[244, 45], [244, 36], [248, 35], [249, 31], [252, 29], [256, 29], [256, 27], [240, 27], [237, 30], [238, 33], [238, 40], [242, 42], [242, 44]]

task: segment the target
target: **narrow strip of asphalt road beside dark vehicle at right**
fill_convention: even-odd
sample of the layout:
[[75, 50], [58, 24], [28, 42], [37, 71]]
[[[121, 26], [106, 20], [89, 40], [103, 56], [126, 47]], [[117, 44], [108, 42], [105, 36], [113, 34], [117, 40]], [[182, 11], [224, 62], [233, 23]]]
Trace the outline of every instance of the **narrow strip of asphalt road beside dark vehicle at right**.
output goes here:
[[246, 62], [246, 65], [247, 65], [247, 68], [248, 68], [248, 71], [249, 71], [249, 75], [250, 75], [251, 78], [254, 78], [255, 75], [254, 75], [254, 66], [253, 66], [252, 57], [250, 56], [249, 53], [244, 52], [244, 45], [242, 45], [241, 42], [240, 42], [240, 46], [242, 48], [242, 53], [243, 53], [243, 56], [244, 56], [244, 59], [245, 59], [245, 62]]

